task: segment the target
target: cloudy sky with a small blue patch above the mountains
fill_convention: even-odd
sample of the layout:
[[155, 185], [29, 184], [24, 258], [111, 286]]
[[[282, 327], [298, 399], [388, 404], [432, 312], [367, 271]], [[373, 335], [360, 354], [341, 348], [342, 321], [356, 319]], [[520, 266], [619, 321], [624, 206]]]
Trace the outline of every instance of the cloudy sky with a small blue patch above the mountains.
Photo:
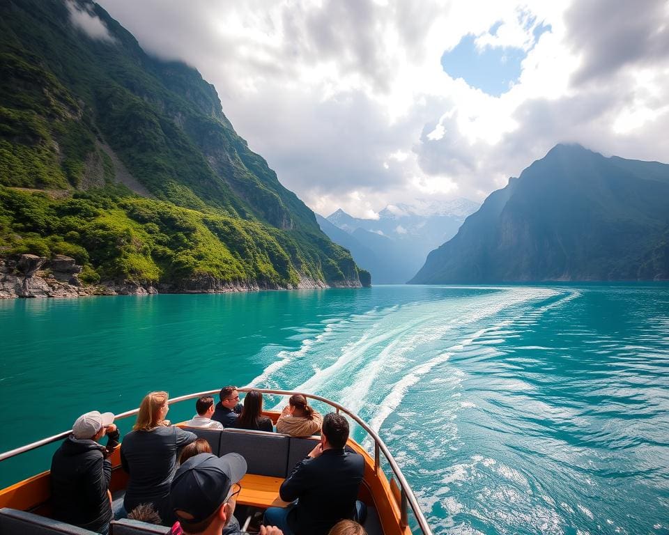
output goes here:
[[669, 162], [663, 0], [99, 3], [322, 215], [481, 202], [558, 143]]

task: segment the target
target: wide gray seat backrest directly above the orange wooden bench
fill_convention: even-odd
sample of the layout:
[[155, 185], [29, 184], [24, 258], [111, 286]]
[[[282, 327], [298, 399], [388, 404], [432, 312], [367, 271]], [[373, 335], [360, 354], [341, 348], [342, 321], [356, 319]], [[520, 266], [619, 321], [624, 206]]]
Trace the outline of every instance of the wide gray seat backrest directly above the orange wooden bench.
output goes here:
[[221, 433], [219, 456], [240, 453], [247, 472], [259, 476], [286, 477], [289, 437], [265, 431], [226, 429]]

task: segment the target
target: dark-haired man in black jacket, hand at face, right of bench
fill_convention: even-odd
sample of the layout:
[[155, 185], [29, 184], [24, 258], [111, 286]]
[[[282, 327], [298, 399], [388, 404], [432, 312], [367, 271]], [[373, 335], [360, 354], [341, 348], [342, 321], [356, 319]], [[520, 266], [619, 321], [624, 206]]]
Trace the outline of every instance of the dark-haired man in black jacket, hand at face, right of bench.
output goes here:
[[321, 442], [279, 488], [284, 502], [298, 503], [270, 507], [266, 524], [276, 525], [285, 535], [326, 535], [342, 518], [364, 520], [367, 509], [356, 501], [364, 459], [344, 451], [346, 440], [348, 420], [334, 412], [325, 414]]

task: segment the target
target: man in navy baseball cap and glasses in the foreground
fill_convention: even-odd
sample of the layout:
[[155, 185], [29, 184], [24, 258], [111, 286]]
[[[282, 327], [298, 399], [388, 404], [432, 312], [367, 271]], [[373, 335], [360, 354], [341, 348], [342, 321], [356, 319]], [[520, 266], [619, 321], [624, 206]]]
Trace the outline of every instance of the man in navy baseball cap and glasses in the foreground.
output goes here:
[[[238, 453], [222, 457], [200, 453], [179, 467], [169, 494], [170, 509], [178, 523], [173, 535], [240, 535], [234, 517], [239, 481], [246, 474], [246, 461]], [[280, 529], [262, 526], [261, 535], [282, 535]]]

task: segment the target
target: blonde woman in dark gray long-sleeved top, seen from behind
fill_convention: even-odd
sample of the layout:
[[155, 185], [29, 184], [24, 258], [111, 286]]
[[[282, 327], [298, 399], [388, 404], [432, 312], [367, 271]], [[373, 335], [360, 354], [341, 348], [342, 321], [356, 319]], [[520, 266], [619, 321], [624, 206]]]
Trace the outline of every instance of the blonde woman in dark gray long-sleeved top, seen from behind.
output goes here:
[[[176, 454], [197, 435], [170, 426], [165, 419], [167, 392], [151, 392], [139, 405], [137, 421], [121, 444], [123, 470], [130, 474], [123, 507], [152, 504], [163, 522], [169, 522], [169, 484], [176, 471]], [[168, 524], [168, 525], [171, 525]]]

